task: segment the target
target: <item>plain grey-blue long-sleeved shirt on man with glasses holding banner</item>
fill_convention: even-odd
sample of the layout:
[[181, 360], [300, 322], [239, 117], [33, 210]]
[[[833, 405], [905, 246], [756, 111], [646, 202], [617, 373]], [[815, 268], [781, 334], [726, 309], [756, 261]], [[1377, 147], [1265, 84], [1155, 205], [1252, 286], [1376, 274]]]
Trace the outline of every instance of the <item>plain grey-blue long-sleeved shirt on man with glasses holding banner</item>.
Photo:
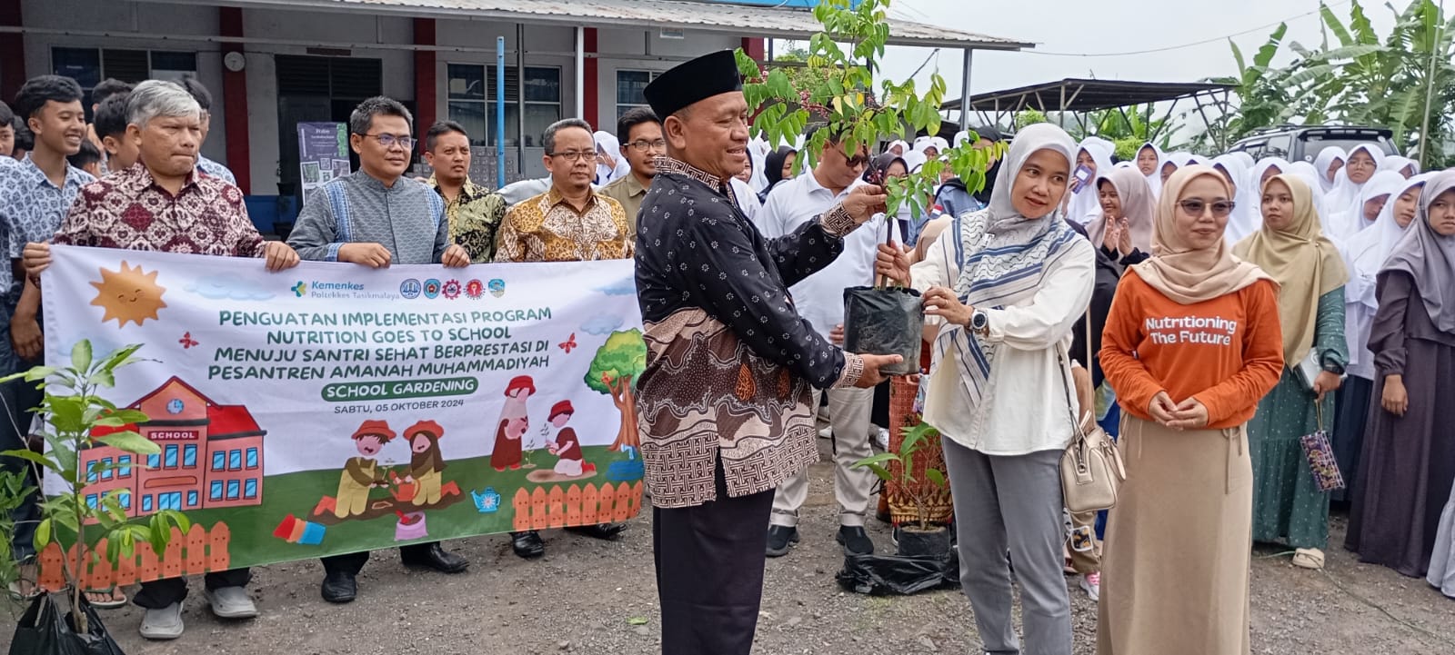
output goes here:
[[384, 186], [362, 170], [308, 195], [288, 245], [308, 261], [338, 261], [346, 244], [380, 244], [394, 264], [438, 264], [450, 247], [445, 202], [426, 184]]

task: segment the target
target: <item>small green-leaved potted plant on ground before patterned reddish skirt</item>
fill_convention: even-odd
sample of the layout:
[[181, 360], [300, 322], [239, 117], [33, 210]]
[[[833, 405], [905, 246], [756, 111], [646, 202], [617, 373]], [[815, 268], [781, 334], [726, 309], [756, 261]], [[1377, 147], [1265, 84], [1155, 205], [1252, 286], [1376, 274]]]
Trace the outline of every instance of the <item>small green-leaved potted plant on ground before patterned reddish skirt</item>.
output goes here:
[[[856, 468], [873, 471], [886, 485], [896, 484], [904, 497], [915, 508], [915, 521], [899, 526], [899, 555], [904, 556], [943, 556], [950, 550], [950, 529], [941, 523], [930, 520], [930, 497], [938, 489], [944, 489], [947, 482], [944, 472], [924, 466], [922, 481], [915, 479], [914, 471], [928, 449], [940, 447], [940, 431], [928, 423], [904, 428], [904, 442], [899, 452], [885, 452], [854, 462]], [[921, 482], [928, 482], [924, 485]]]

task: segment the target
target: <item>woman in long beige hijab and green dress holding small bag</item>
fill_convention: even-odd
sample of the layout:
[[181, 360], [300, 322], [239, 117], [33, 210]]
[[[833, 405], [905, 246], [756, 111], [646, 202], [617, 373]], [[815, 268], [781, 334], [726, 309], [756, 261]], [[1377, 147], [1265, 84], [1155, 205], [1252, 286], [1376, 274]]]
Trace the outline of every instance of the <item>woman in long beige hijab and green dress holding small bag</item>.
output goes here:
[[[1293, 565], [1324, 568], [1328, 492], [1318, 488], [1301, 437], [1331, 430], [1334, 395], [1349, 365], [1339, 248], [1320, 227], [1314, 190], [1292, 174], [1263, 184], [1263, 228], [1232, 248], [1279, 283], [1283, 370], [1248, 423], [1253, 455], [1253, 540], [1293, 546]], [[1299, 365], [1312, 357], [1314, 379]]]

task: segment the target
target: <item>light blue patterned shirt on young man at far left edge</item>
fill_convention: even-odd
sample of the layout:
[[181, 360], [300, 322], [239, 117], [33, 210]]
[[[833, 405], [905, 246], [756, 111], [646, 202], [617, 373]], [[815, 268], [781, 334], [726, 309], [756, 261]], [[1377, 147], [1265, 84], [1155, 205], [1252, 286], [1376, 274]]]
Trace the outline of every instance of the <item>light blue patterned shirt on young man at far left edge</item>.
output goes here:
[[[57, 187], [31, 161], [31, 155], [16, 166], [0, 167], [0, 227], [4, 229], [6, 259], [20, 259], [28, 243], [48, 241], [81, 187], [92, 182], [96, 179], [90, 173], [67, 166], [65, 182]], [[25, 280], [13, 279], [10, 261], [0, 269], [0, 289], [7, 295], [7, 306], [15, 309]]]

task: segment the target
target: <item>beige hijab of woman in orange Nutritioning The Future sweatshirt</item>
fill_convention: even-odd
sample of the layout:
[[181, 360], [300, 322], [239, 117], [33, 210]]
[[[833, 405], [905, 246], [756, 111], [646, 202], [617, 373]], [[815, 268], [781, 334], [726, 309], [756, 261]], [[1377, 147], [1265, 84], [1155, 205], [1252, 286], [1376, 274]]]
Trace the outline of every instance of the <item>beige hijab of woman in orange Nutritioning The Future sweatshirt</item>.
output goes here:
[[1177, 173], [1167, 179], [1163, 196], [1157, 202], [1157, 215], [1152, 219], [1152, 259], [1132, 267], [1138, 277], [1179, 305], [1222, 298], [1257, 280], [1272, 280], [1257, 266], [1234, 257], [1224, 240], [1219, 238], [1209, 248], [1193, 250], [1187, 245], [1187, 238], [1177, 232], [1177, 202], [1181, 200], [1183, 189], [1203, 176], [1218, 180], [1227, 198], [1232, 199], [1228, 180], [1216, 168], [1200, 164], [1177, 168]]

